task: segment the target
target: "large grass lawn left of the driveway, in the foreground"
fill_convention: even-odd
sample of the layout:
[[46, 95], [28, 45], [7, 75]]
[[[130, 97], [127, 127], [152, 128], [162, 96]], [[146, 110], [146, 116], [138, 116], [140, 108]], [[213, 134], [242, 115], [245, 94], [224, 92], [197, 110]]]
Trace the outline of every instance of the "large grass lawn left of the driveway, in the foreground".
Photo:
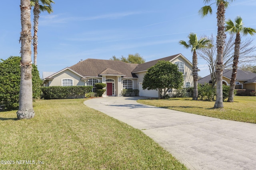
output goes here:
[[0, 169], [186, 169], [142, 131], [83, 102], [39, 100], [29, 120], [0, 112], [0, 160], [14, 161]]

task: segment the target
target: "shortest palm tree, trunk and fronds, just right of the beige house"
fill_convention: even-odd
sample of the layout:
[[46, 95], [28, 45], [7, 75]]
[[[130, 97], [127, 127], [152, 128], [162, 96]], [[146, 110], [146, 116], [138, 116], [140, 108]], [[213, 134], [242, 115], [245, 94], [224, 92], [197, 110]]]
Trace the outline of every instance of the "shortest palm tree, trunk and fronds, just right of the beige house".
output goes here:
[[197, 49], [201, 49], [201, 48], [205, 48], [208, 47], [208, 43], [210, 43], [210, 40], [207, 38], [201, 38], [201, 39], [197, 39], [197, 36], [195, 33], [190, 33], [188, 35], [188, 43], [186, 43], [186, 41], [179, 41], [179, 43], [181, 45], [184, 45], [184, 47], [186, 49], [191, 48], [191, 52], [193, 52], [193, 59], [192, 59], [192, 63], [193, 63], [193, 80], [194, 80], [194, 88], [193, 88], [193, 100], [198, 100], [198, 71], [200, 71], [197, 67], [197, 54], [196, 54], [196, 50]]

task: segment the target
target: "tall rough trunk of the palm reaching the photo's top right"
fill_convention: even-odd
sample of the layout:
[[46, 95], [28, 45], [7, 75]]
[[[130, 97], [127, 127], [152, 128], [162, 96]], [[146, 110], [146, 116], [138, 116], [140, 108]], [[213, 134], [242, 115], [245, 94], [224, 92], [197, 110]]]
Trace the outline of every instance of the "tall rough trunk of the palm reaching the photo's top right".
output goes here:
[[217, 25], [218, 34], [216, 39], [217, 44], [217, 64], [216, 64], [216, 102], [214, 108], [224, 107], [223, 105], [223, 92], [222, 92], [222, 75], [225, 66], [223, 65], [223, 49], [226, 39], [224, 31], [225, 24], [225, 5], [224, 2], [218, 4], [217, 9]]

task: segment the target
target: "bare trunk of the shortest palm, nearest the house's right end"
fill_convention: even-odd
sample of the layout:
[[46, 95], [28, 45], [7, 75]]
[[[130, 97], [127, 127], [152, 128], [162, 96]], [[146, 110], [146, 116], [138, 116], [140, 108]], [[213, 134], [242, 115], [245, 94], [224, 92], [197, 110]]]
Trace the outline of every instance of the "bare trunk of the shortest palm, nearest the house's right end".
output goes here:
[[193, 51], [193, 80], [194, 80], [194, 88], [193, 88], [193, 98], [192, 100], [198, 100], [198, 67], [197, 67], [197, 55], [196, 55], [196, 50]]

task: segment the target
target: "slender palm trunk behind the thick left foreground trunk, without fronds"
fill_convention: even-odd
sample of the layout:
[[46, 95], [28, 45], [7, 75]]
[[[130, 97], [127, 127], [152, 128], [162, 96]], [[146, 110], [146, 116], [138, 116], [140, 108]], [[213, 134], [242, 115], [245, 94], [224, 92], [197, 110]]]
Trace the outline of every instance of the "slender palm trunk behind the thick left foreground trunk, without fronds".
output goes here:
[[37, 31], [38, 31], [38, 21], [39, 21], [39, 14], [40, 14], [38, 2], [35, 3], [33, 14], [34, 14], [34, 36], [33, 36], [34, 64], [37, 65], [37, 45], [38, 45]]

